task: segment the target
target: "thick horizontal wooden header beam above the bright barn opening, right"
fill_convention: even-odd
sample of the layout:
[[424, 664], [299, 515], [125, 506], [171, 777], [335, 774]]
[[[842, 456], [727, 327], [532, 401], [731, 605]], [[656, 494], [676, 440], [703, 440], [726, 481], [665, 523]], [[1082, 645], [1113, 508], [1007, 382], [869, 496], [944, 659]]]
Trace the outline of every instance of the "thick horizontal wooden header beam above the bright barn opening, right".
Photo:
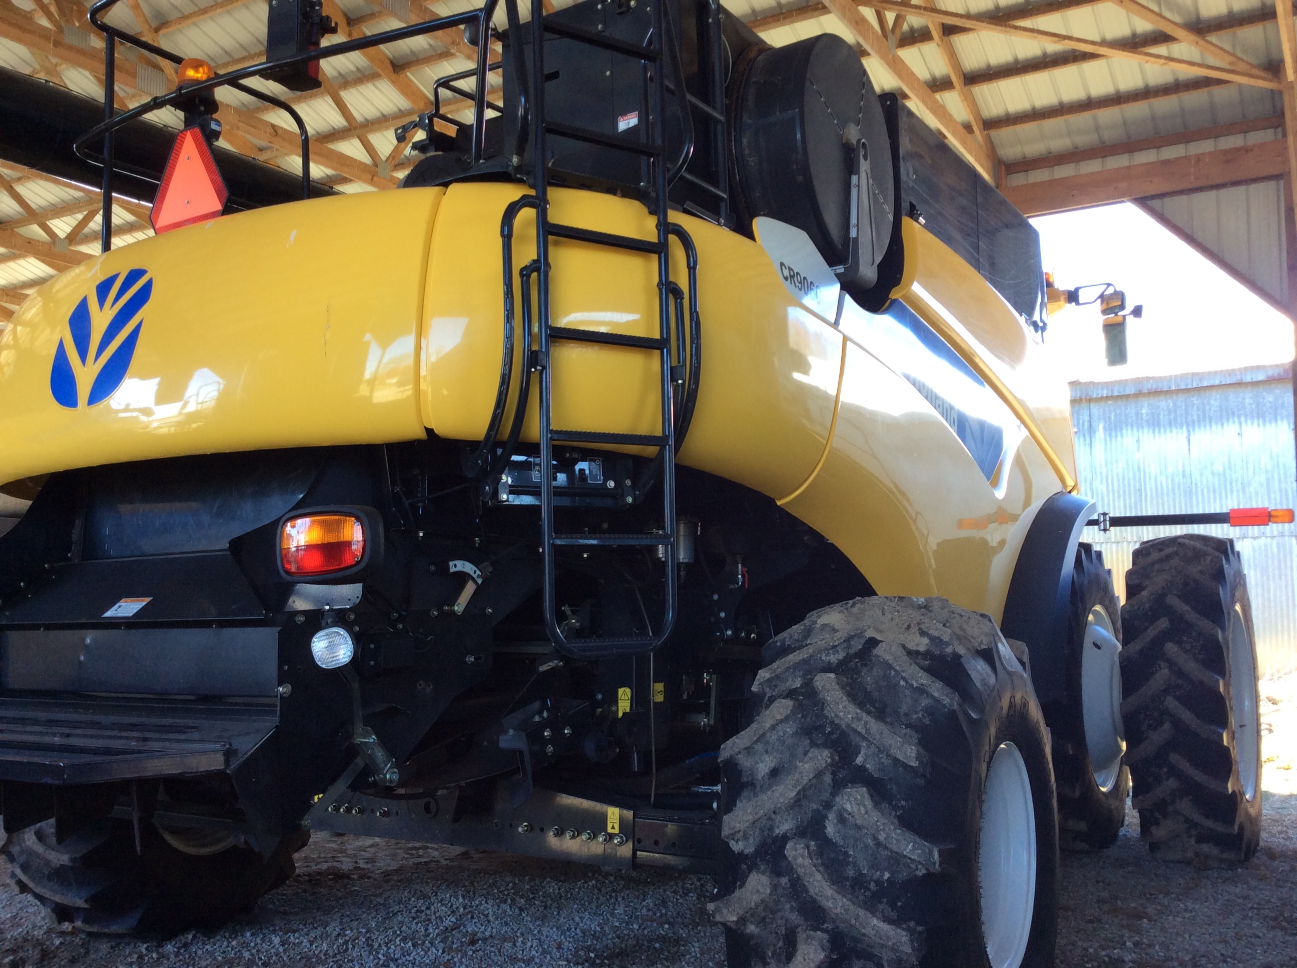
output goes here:
[[1003, 192], [1023, 215], [1045, 215], [1275, 179], [1287, 170], [1287, 146], [1275, 140], [1009, 185]]

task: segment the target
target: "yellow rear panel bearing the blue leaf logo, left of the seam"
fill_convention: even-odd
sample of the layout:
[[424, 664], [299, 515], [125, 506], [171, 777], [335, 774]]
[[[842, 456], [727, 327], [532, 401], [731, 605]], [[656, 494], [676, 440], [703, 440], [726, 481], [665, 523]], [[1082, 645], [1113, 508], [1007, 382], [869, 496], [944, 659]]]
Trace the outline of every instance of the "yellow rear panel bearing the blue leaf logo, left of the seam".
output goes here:
[[[444, 189], [279, 205], [82, 263], [0, 332], [0, 482], [183, 454], [423, 434], [415, 338]], [[102, 403], [51, 395], [69, 315], [96, 282], [153, 280], [126, 381]], [[92, 343], [105, 321], [96, 319]], [[115, 345], [115, 343], [114, 343]], [[105, 352], [104, 360], [110, 354]]]

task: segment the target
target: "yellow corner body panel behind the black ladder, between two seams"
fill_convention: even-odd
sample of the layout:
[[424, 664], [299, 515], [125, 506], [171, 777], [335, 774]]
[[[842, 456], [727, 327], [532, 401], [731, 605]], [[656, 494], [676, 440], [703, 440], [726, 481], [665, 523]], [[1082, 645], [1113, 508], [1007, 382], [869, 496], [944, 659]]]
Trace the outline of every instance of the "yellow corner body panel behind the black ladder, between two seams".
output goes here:
[[[486, 430], [503, 317], [497, 214], [520, 194], [515, 185], [453, 185], [437, 215], [422, 367], [424, 419], [440, 437], [481, 439]], [[563, 189], [551, 198], [554, 222], [654, 237], [654, 219], [638, 202]], [[809, 474], [827, 439], [842, 337], [789, 294], [756, 242], [702, 219], [673, 218], [698, 246], [704, 341], [698, 409], [681, 461], [782, 498]], [[534, 255], [528, 210], [518, 219], [515, 271]], [[554, 240], [550, 263], [555, 325], [658, 336], [654, 257]], [[672, 277], [685, 284], [678, 244]], [[655, 354], [555, 341], [551, 369], [556, 428], [661, 433]], [[537, 393], [533, 381], [525, 441], [537, 439]]]

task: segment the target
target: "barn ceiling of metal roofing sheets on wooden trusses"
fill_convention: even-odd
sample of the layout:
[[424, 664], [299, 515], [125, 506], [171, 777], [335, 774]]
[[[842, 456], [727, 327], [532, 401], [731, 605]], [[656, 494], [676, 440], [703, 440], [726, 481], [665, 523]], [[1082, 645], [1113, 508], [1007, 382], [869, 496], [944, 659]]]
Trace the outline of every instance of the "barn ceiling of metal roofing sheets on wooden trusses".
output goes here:
[[[1166, 224], [1287, 305], [1292, 216], [1267, 206], [1283, 206], [1297, 161], [1284, 137], [1297, 89], [1291, 0], [1278, 8], [1266, 0], [726, 6], [774, 45], [840, 34], [875, 87], [899, 92], [1023, 211], [1152, 200], [1145, 205]], [[333, 41], [471, 8], [466, 0], [324, 0], [341, 25]], [[266, 0], [122, 0], [109, 21], [226, 71], [265, 57], [266, 12]], [[0, 65], [101, 98], [102, 38], [86, 14], [79, 0], [0, 0]], [[450, 30], [324, 61], [326, 83], [315, 92], [257, 84], [306, 119], [313, 178], [344, 192], [387, 190], [411, 165], [393, 128], [428, 110], [436, 79], [467, 69], [473, 54]], [[115, 80], [125, 109], [169, 89], [174, 73], [119, 48]], [[226, 146], [300, 171], [287, 115], [228, 88], [219, 97]], [[1268, 188], [1239, 196], [1249, 185]], [[1175, 201], [1228, 200], [1230, 192], [1241, 209]], [[1222, 225], [1227, 211], [1235, 223], [1258, 220], [1268, 254], [1254, 251], [1246, 225], [1231, 241], [1239, 232]], [[99, 216], [84, 188], [0, 162], [0, 325], [32, 286], [97, 253]], [[114, 244], [149, 232], [147, 211], [114, 209]]]

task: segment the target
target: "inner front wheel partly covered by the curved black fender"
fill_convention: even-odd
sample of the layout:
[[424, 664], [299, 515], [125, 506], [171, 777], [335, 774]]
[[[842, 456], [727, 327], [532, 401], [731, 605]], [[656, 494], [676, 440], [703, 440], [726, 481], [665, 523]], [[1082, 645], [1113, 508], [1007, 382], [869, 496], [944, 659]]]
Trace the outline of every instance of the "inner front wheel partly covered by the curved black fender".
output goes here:
[[1131, 780], [1122, 763], [1121, 641], [1121, 605], [1104, 556], [1082, 544], [1071, 573], [1067, 696], [1047, 710], [1064, 850], [1101, 850], [1126, 823]]

